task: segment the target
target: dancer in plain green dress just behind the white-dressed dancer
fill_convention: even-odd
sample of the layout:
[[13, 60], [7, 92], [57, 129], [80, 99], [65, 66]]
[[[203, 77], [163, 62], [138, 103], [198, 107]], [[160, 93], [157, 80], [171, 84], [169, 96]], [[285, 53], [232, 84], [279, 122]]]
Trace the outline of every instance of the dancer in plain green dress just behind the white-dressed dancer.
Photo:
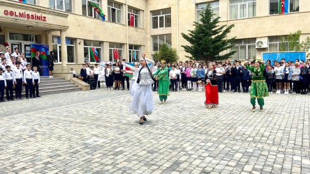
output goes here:
[[153, 73], [153, 76], [156, 76], [158, 79], [158, 95], [159, 100], [167, 100], [169, 95], [169, 85], [170, 79], [168, 75], [168, 67], [158, 68], [156, 72]]

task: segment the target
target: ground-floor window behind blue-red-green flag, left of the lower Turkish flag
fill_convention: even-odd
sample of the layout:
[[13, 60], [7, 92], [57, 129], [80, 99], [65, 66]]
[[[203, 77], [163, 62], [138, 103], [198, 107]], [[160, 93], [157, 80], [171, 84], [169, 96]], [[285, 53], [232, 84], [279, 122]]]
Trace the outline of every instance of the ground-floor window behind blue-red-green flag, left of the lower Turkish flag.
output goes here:
[[[96, 60], [96, 58], [98, 58]], [[101, 61], [101, 44], [98, 41], [84, 40], [84, 60]]]

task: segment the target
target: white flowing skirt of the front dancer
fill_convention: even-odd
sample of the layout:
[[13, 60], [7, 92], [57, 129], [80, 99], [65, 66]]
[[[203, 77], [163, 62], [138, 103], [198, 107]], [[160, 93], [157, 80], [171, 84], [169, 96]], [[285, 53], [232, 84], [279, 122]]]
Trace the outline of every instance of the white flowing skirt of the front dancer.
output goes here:
[[[135, 84], [137, 84], [135, 82]], [[129, 109], [138, 114], [138, 117], [150, 115], [154, 111], [152, 85], [135, 85], [133, 89], [133, 101]]]

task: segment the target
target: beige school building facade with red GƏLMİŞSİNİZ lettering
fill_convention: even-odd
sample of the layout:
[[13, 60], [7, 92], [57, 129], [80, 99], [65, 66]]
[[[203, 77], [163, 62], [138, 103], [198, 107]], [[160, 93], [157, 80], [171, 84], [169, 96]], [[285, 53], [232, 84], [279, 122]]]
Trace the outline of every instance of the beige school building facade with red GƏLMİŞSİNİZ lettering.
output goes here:
[[[105, 13], [105, 22], [88, 1]], [[235, 60], [261, 57], [288, 46], [282, 35], [302, 31], [300, 42], [310, 34], [310, 1], [289, 0], [288, 14], [279, 15], [278, 0], [0, 0], [0, 50], [19, 47], [29, 57], [30, 44], [47, 44], [56, 53], [55, 71], [80, 68], [85, 60], [114, 61], [113, 51], [133, 62], [140, 54], [158, 51], [163, 43], [177, 49], [181, 60], [188, 44], [181, 33], [193, 29], [202, 8], [210, 3], [220, 24], [235, 24]], [[256, 42], [266, 43], [256, 48]], [[91, 48], [91, 49], [90, 49]]]

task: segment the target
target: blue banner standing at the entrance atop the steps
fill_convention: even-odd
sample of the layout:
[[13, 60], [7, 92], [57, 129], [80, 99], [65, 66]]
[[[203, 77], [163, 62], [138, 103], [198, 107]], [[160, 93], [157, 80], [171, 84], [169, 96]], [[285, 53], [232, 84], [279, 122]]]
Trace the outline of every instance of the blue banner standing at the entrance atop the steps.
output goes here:
[[[40, 52], [40, 76], [50, 76], [50, 72], [48, 71], [48, 60], [47, 55], [49, 54], [49, 47], [45, 44], [31, 44], [31, 57], [36, 56], [36, 52]], [[32, 58], [31, 58], [32, 61]], [[32, 65], [32, 62], [31, 62]]]

